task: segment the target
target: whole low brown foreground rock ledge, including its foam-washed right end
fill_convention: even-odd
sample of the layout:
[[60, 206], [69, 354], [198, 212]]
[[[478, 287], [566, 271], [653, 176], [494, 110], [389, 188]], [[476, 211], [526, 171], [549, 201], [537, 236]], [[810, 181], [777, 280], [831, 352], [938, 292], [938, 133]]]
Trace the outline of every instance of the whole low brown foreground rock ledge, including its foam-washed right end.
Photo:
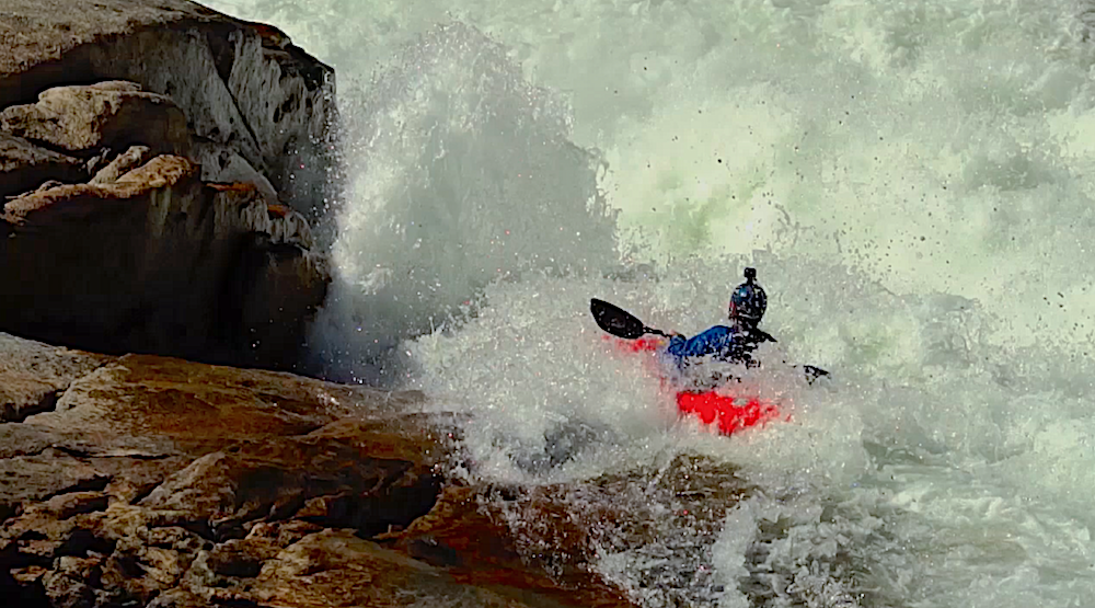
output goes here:
[[667, 517], [702, 554], [745, 492], [691, 459], [469, 483], [462, 421], [417, 393], [2, 337], [4, 411], [37, 412], [0, 424], [0, 594], [23, 607], [633, 606], [598, 555]]

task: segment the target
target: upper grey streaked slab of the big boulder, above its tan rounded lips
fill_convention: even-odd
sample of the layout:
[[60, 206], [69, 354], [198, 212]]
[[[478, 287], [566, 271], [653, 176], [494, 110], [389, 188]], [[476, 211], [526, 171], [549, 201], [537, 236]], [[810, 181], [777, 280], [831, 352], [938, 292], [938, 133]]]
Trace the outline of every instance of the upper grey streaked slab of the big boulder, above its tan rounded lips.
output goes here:
[[205, 181], [258, 173], [278, 202], [309, 219], [322, 210], [334, 73], [277, 30], [186, 0], [11, 0], [0, 39], [0, 107], [57, 85], [136, 82], [185, 114]]

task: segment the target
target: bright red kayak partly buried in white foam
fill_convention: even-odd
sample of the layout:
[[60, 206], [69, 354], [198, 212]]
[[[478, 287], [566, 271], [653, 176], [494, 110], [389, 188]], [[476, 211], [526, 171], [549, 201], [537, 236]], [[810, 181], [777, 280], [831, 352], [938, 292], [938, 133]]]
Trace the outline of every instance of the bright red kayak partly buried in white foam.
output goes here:
[[[655, 352], [662, 347], [661, 339], [641, 337], [620, 340], [604, 336], [616, 348], [630, 353]], [[677, 392], [677, 410], [683, 415], [694, 415], [704, 424], [717, 425], [723, 435], [751, 428], [780, 417], [780, 408], [756, 395], [735, 395], [722, 391], [683, 390]]]

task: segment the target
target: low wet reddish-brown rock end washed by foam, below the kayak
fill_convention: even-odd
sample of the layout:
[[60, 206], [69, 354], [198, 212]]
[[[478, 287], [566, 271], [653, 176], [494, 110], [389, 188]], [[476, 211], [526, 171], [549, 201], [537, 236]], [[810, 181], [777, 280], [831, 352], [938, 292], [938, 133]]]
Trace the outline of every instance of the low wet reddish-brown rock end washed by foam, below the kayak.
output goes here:
[[[584, 482], [447, 487], [428, 515], [389, 538], [460, 580], [580, 606], [631, 606], [656, 588], [656, 605], [688, 606], [722, 593], [711, 548], [749, 491], [733, 468], [677, 456]], [[677, 559], [665, 559], [670, 552]], [[604, 571], [610, 554], [632, 562], [626, 577]]]

